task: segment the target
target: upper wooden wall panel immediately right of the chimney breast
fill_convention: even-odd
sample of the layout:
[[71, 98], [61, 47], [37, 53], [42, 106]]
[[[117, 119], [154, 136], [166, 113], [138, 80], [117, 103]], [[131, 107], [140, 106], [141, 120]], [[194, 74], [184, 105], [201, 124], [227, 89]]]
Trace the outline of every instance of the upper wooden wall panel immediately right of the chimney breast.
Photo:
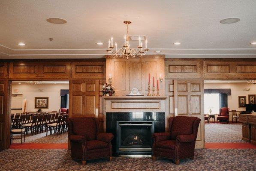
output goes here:
[[199, 61], [166, 61], [165, 72], [166, 78], [200, 78], [201, 65]]

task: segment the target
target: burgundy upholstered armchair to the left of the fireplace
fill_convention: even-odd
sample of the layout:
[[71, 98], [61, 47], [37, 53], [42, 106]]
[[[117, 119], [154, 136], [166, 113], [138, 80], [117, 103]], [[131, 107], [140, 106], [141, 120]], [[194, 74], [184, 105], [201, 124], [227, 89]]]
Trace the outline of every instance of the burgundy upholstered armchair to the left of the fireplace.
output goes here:
[[99, 133], [99, 119], [93, 117], [66, 119], [71, 143], [72, 159], [86, 160], [108, 157], [112, 159], [112, 133]]

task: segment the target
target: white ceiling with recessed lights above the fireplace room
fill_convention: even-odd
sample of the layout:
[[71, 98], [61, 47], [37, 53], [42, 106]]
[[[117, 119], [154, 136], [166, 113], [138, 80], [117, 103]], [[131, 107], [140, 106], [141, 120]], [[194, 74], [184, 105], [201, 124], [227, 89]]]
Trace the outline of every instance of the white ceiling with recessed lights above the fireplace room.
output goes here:
[[[220, 24], [229, 17], [241, 21]], [[147, 36], [149, 54], [256, 58], [256, 0], [0, 0], [0, 59], [102, 58], [111, 35], [123, 44], [125, 20], [130, 35]]]

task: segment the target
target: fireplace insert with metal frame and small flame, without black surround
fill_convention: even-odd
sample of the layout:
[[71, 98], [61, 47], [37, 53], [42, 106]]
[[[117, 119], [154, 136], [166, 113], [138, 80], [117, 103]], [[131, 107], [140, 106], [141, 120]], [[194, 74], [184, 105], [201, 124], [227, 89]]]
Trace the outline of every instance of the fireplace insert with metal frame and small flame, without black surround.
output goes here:
[[154, 122], [117, 121], [117, 153], [151, 154]]

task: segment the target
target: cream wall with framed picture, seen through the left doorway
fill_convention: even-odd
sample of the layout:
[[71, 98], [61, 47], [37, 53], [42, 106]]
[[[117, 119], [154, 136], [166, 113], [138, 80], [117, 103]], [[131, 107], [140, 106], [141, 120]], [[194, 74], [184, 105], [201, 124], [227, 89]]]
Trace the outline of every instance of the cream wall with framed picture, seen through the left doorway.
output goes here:
[[[18, 92], [14, 93], [13, 90], [18, 88]], [[43, 89], [40, 92], [39, 89]], [[49, 108], [42, 109], [43, 112], [59, 111], [60, 109], [60, 89], [69, 89], [69, 84], [12, 84], [12, 94], [23, 94], [23, 108], [24, 98], [27, 99], [26, 112], [36, 112], [35, 97], [49, 97]], [[23, 109], [22, 109], [23, 111]], [[12, 113], [21, 111], [12, 110]]]

